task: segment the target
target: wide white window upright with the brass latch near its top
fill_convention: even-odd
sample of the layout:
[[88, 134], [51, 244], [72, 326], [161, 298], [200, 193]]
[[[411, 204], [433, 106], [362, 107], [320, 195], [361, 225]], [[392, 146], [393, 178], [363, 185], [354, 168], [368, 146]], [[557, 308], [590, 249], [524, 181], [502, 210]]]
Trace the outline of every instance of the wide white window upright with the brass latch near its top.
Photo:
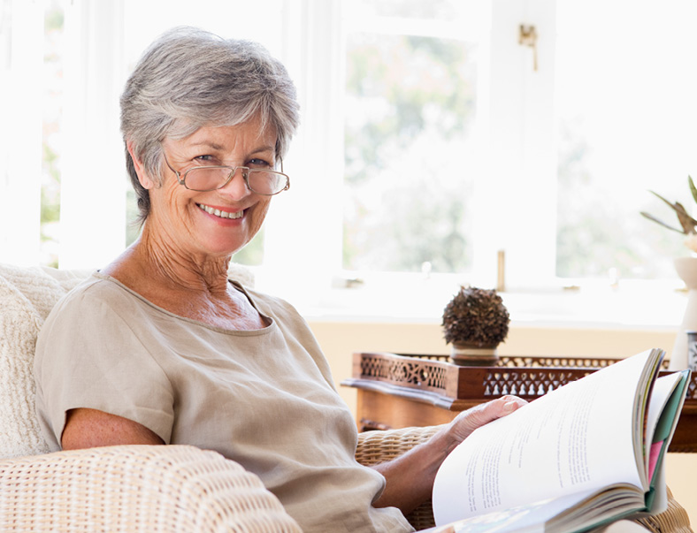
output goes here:
[[[521, 24], [539, 35], [518, 44]], [[506, 286], [548, 285], [555, 274], [554, 0], [494, 2], [489, 45], [488, 164], [476, 184], [475, 272], [494, 286], [505, 251]], [[484, 229], [486, 228], [486, 230]]]

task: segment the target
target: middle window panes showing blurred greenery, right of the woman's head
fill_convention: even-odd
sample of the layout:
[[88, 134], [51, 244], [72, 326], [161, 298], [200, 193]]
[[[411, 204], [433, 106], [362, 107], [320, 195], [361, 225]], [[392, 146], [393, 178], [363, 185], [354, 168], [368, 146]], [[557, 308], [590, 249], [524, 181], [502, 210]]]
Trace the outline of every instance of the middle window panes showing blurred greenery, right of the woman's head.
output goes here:
[[347, 9], [387, 18], [384, 33], [347, 34], [343, 267], [468, 270], [474, 177], [463, 154], [476, 116], [476, 43], [389, 26], [389, 17], [447, 21], [458, 16], [453, 2]]

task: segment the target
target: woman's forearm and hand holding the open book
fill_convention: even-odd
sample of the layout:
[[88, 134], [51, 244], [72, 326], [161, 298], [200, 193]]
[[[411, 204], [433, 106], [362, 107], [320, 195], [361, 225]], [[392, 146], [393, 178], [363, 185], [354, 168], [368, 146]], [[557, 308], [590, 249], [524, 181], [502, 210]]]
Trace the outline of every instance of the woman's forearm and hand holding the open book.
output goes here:
[[502, 416], [509, 415], [527, 403], [516, 396], [503, 396], [457, 415], [453, 422], [423, 445], [417, 445], [394, 461], [375, 465], [385, 476], [385, 491], [373, 506], [399, 508], [409, 513], [431, 497], [433, 481], [440, 464], [472, 431]]

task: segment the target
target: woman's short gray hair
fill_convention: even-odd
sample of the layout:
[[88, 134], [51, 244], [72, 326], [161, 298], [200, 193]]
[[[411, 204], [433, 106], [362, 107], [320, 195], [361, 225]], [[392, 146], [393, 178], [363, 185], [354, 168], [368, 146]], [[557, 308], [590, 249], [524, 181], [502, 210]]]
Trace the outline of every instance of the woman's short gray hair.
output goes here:
[[[298, 126], [299, 105], [280, 61], [256, 42], [177, 27], [149, 46], [126, 81], [121, 133], [144, 170], [161, 184], [165, 137], [180, 139], [202, 126], [236, 126], [257, 113], [262, 129], [275, 126], [276, 156], [284, 156]], [[149, 215], [149, 194], [127, 146], [126, 169], [142, 223]]]

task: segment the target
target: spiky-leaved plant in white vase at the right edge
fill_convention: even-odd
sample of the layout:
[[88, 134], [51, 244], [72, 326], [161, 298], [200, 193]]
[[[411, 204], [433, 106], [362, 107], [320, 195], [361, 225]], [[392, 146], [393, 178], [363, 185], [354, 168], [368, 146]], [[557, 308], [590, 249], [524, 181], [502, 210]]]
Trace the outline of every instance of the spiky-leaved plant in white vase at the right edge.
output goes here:
[[[693, 200], [697, 203], [697, 187], [694, 187], [693, 179], [688, 176], [687, 184]], [[649, 191], [675, 211], [680, 227], [666, 224], [653, 215], [641, 211], [641, 216], [652, 220], [656, 224], [662, 225], [673, 232], [685, 235], [685, 246], [693, 252], [691, 256], [675, 257], [673, 263], [678, 276], [685, 282], [687, 287], [687, 304], [683, 322], [680, 325], [678, 336], [670, 354], [670, 369], [685, 369], [688, 366], [687, 357], [687, 331], [697, 330], [697, 219], [693, 218], [680, 202], [669, 202], [661, 194]]]

